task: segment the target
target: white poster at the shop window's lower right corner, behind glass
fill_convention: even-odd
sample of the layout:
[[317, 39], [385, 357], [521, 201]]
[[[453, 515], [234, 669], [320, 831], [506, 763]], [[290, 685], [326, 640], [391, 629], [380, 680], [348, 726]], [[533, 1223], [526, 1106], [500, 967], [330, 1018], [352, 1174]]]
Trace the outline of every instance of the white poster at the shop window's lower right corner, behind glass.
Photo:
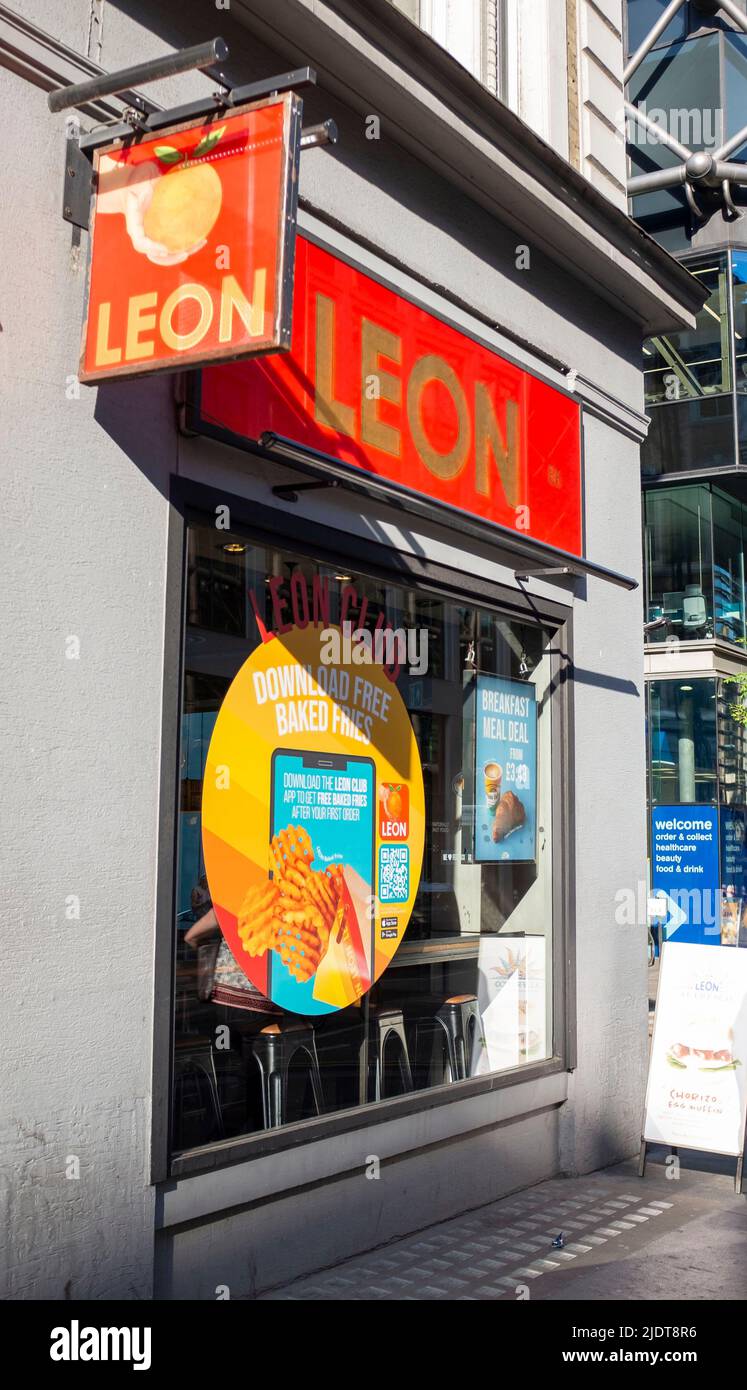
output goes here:
[[474, 1041], [473, 1076], [547, 1056], [545, 938], [480, 937], [477, 1005], [483, 1031]]

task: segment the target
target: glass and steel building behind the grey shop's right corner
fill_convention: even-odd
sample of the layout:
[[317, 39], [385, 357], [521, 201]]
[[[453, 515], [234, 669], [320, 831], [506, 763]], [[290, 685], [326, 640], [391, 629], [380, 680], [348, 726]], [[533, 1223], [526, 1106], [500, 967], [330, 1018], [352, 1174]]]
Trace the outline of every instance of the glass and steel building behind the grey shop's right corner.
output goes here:
[[659, 808], [702, 808], [711, 901], [677, 937], [744, 944], [747, 13], [683, 4], [664, 28], [662, 15], [659, 4], [629, 0], [632, 211], [708, 297], [693, 331], [644, 345], [652, 883], [666, 885]]

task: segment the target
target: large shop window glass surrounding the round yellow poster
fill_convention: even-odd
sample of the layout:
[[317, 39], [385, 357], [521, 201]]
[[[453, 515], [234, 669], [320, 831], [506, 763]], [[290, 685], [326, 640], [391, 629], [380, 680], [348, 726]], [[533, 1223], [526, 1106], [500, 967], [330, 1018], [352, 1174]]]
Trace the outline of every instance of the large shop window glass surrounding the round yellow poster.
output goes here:
[[[348, 560], [330, 564], [295, 549], [256, 545], [199, 518], [188, 525], [186, 555], [172, 1151], [241, 1140], [320, 1111], [331, 1115], [394, 1095], [458, 1087], [552, 1056], [551, 630], [359, 573]], [[427, 632], [427, 664], [415, 674], [401, 670], [395, 681], [415, 731], [426, 795], [415, 909], [373, 987], [313, 1017], [271, 1004], [231, 955], [216, 926], [200, 827], [207, 746], [218, 710], [260, 645], [260, 624], [271, 631], [273, 602], [289, 599], [291, 580], [296, 594], [302, 585], [312, 592], [314, 581], [326, 585], [331, 624], [341, 620], [346, 591], [348, 619], [360, 627], [373, 632], [377, 623], [392, 621]], [[501, 803], [501, 777], [519, 794], [515, 805], [522, 776], [517, 764], [506, 762], [497, 771], [494, 760], [485, 760], [476, 699], [480, 688], [504, 689], [506, 682], [522, 699], [529, 691], [536, 710], [533, 835], [516, 855], [508, 840], [501, 841], [511, 827], [492, 834], [498, 821], [491, 817]], [[262, 791], [267, 767], [257, 766], [256, 776]], [[245, 805], [246, 816], [268, 815], [255, 787], [246, 788]], [[339, 834], [344, 859], [345, 831]], [[480, 835], [501, 841], [501, 856], [485, 860]], [[381, 876], [377, 883], [381, 892]], [[270, 1095], [263, 1090], [262, 1049], [267, 1038], [287, 1036], [291, 1023], [300, 1030], [291, 1038], [305, 1045], [278, 1063], [282, 1074]]]

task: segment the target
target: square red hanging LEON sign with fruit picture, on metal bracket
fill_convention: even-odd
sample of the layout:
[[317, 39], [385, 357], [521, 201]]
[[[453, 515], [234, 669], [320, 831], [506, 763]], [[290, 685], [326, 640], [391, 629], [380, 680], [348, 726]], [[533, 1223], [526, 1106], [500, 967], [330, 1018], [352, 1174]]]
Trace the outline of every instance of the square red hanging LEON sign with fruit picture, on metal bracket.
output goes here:
[[81, 381], [291, 343], [292, 93], [96, 152]]

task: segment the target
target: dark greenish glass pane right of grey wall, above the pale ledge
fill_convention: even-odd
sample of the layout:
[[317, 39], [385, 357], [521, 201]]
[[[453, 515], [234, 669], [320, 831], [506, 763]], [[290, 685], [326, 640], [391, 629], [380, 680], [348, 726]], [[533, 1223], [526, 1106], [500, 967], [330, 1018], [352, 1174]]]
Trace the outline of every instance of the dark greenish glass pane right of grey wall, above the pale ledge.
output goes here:
[[647, 621], [665, 617], [650, 641], [714, 635], [708, 488], [644, 493]]

